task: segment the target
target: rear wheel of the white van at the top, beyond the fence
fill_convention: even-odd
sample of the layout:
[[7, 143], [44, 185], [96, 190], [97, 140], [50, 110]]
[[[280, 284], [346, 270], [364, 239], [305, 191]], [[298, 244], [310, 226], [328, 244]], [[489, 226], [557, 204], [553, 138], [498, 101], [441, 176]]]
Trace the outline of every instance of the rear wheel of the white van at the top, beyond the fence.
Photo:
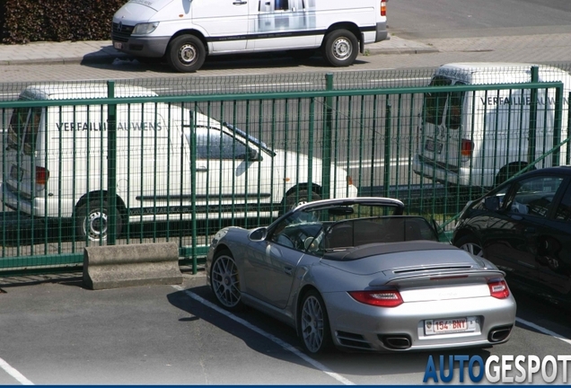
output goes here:
[[325, 36], [321, 50], [329, 65], [350, 66], [359, 54], [359, 42], [351, 31], [335, 30]]

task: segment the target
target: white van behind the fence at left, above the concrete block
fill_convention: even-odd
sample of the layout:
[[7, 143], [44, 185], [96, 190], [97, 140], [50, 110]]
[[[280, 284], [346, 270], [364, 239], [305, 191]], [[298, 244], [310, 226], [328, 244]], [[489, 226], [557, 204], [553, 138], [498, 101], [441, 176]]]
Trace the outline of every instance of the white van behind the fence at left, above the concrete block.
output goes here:
[[[156, 94], [117, 85], [115, 95]], [[20, 100], [106, 96], [105, 85], [50, 84], [27, 87]], [[71, 218], [78, 238], [106, 239], [107, 110], [106, 105], [13, 110], [4, 138], [5, 206], [41, 220]], [[321, 160], [312, 158], [312, 199], [322, 196], [321, 168]], [[330, 173], [330, 198], [356, 197], [345, 170], [332, 165]], [[269, 149], [232, 125], [171, 104], [118, 105], [118, 234], [127, 220], [190, 219], [193, 175], [197, 218], [277, 216], [310, 197], [305, 154]]]

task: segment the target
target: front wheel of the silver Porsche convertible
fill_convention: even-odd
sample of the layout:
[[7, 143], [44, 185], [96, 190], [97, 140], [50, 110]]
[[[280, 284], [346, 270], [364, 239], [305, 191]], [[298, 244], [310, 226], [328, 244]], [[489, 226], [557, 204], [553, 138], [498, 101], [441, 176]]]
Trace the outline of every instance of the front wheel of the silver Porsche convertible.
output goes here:
[[231, 251], [216, 253], [210, 270], [210, 286], [218, 304], [229, 311], [243, 308], [240, 274]]

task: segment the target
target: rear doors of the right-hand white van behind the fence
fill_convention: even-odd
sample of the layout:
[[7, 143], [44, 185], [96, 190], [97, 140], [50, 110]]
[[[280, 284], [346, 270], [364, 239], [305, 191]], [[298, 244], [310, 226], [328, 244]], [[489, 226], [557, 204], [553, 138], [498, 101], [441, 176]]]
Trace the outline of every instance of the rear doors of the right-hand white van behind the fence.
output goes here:
[[[463, 83], [440, 75], [430, 82], [431, 86], [452, 84]], [[425, 94], [418, 154], [421, 162], [450, 172], [450, 177], [441, 177], [441, 181], [451, 181], [452, 175], [458, 173], [462, 161], [467, 158], [465, 154], [471, 150], [470, 141], [461, 136], [464, 95], [464, 92]]]

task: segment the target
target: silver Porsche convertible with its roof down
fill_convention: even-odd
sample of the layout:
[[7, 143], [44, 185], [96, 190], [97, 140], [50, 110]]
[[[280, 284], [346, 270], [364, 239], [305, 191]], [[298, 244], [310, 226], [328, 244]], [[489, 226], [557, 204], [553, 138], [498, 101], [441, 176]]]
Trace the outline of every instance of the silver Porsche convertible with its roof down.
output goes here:
[[488, 347], [507, 341], [515, 301], [488, 260], [438, 242], [400, 200], [309, 202], [268, 227], [227, 227], [206, 259], [228, 310], [286, 322], [310, 354]]

